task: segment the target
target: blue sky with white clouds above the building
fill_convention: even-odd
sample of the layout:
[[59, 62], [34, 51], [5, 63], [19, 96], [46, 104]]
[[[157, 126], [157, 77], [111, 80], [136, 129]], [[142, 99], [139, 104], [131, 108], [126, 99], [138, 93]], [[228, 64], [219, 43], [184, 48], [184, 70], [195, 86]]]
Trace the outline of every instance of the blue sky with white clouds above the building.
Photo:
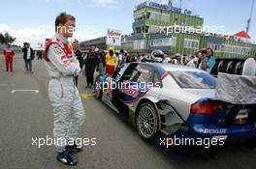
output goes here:
[[[2, 2], [1, 2], [2, 1]], [[154, 0], [167, 3], [167, 0]], [[57, 14], [76, 16], [74, 39], [81, 41], [106, 36], [108, 28], [131, 34], [133, 11], [143, 0], [0, 0], [0, 33], [16, 37], [15, 44], [30, 42], [32, 46], [54, 35]], [[256, 3], [256, 2], [255, 2]], [[224, 26], [232, 34], [245, 30], [252, 0], [182, 0], [182, 9], [204, 18], [205, 26]], [[174, 0], [179, 6], [179, 0]], [[249, 35], [256, 40], [256, 4]]]

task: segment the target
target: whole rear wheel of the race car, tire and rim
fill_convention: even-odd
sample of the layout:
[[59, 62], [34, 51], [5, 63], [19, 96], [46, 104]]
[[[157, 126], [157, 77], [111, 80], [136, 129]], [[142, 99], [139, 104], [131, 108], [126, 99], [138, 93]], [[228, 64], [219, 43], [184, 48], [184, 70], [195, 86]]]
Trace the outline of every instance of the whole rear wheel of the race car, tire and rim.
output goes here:
[[155, 106], [147, 101], [140, 105], [136, 117], [137, 130], [145, 141], [155, 141], [160, 134], [160, 117]]

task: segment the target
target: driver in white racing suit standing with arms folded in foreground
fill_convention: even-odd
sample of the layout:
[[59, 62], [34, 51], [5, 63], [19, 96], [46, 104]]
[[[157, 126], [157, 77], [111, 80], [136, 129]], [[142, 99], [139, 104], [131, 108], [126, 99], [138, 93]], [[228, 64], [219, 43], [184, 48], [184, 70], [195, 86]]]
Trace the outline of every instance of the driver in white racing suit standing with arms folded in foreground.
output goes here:
[[48, 98], [53, 107], [53, 136], [57, 149], [57, 160], [74, 166], [78, 160], [71, 153], [81, 152], [81, 145], [76, 144], [79, 129], [85, 113], [80, 93], [75, 85], [75, 76], [80, 73], [77, 60], [68, 38], [73, 36], [76, 18], [62, 13], [55, 19], [55, 36], [46, 42], [44, 60], [50, 78]]

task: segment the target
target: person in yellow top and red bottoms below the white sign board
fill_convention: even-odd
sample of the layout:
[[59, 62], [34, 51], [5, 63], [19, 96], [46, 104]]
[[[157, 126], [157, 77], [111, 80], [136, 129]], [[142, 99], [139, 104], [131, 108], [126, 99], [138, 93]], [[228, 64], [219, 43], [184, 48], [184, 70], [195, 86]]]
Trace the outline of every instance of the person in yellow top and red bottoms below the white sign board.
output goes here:
[[106, 73], [112, 75], [115, 70], [116, 55], [113, 53], [113, 47], [109, 47], [109, 52], [106, 55]]

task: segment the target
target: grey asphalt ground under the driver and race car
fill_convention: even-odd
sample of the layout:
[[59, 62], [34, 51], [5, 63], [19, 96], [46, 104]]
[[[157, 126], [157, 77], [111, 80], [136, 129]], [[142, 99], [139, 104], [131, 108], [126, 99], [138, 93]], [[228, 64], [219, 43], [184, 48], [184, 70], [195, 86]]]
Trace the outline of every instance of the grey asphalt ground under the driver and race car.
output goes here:
[[[43, 61], [33, 62], [33, 74], [24, 70], [20, 55], [14, 72], [5, 72], [0, 56], [0, 168], [71, 168], [55, 159], [54, 146], [36, 146], [32, 138], [52, 138], [53, 115], [48, 101], [48, 75]], [[85, 90], [80, 76], [79, 90], [86, 112], [80, 138], [96, 138], [76, 154], [81, 169], [252, 169], [256, 151], [232, 145], [219, 149], [216, 158], [208, 155], [184, 157], [170, 154], [157, 144], [147, 144], [118, 114]], [[29, 91], [31, 90], [31, 91]]]

